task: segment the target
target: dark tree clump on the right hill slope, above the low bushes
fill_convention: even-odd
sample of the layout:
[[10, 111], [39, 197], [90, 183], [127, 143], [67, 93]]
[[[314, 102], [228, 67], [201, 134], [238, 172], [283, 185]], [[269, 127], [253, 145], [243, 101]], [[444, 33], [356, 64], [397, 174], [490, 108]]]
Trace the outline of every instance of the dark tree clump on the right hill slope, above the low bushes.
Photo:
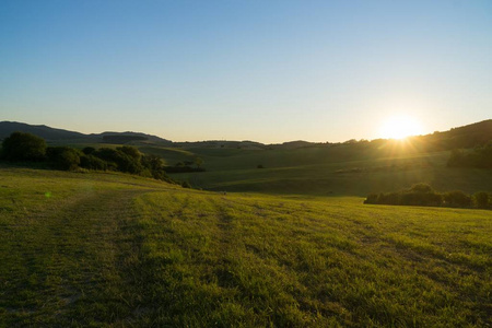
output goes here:
[[492, 141], [475, 148], [471, 152], [453, 150], [447, 166], [492, 168]]

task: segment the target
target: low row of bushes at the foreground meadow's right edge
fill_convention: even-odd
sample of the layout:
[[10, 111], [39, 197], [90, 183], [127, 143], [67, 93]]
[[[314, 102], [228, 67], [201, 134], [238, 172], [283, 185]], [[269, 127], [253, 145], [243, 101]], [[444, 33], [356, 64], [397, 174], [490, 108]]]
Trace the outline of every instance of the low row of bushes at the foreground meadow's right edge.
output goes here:
[[492, 195], [480, 191], [468, 196], [460, 190], [437, 192], [427, 184], [417, 184], [401, 191], [370, 194], [364, 203], [490, 209]]

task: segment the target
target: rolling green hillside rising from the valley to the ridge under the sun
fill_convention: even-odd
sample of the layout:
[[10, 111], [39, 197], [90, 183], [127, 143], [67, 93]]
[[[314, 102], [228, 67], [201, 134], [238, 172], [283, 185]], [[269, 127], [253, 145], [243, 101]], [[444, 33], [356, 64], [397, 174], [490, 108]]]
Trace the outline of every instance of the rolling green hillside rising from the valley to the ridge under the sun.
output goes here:
[[[0, 124], [0, 127], [9, 125]], [[31, 126], [30, 126], [31, 127]], [[62, 132], [60, 132], [62, 133]], [[63, 132], [65, 133], [65, 132]], [[60, 134], [61, 136], [61, 134]], [[75, 134], [70, 134], [75, 136]], [[77, 134], [78, 136], [78, 134]], [[75, 136], [75, 137], [77, 137]], [[102, 133], [83, 145], [125, 143], [125, 133]], [[130, 138], [145, 138], [133, 133]], [[172, 174], [191, 186], [215, 191], [248, 191], [282, 195], [366, 196], [427, 183], [440, 191], [490, 191], [490, 169], [447, 167], [449, 150], [457, 145], [483, 144], [492, 140], [492, 120], [445, 132], [412, 137], [406, 141], [373, 140], [311, 144], [302, 141], [262, 145], [250, 141], [130, 142], [141, 152], [154, 154], [173, 166], [200, 157], [206, 172]], [[70, 143], [58, 140], [56, 144]], [[178, 147], [179, 145], [179, 147]], [[262, 167], [262, 168], [258, 168]]]

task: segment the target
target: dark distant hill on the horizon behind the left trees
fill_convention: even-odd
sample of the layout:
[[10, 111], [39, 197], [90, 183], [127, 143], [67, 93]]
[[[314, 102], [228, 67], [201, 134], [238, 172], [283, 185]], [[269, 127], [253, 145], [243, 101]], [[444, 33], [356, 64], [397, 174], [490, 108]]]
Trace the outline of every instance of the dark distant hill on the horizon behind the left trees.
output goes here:
[[0, 140], [9, 137], [12, 132], [21, 131], [36, 134], [47, 141], [52, 142], [107, 142], [107, 143], [128, 143], [132, 141], [152, 142], [160, 144], [171, 144], [172, 141], [141, 132], [103, 132], [84, 134], [63, 129], [50, 128], [47, 126], [33, 126], [16, 121], [0, 122]]

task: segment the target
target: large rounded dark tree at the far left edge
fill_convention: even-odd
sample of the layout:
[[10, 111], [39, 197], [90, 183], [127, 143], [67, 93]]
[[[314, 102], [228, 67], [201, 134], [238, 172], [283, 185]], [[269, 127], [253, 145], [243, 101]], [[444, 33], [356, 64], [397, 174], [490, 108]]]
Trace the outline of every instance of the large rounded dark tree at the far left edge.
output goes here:
[[2, 142], [2, 155], [9, 161], [42, 161], [46, 141], [31, 133], [13, 132]]

